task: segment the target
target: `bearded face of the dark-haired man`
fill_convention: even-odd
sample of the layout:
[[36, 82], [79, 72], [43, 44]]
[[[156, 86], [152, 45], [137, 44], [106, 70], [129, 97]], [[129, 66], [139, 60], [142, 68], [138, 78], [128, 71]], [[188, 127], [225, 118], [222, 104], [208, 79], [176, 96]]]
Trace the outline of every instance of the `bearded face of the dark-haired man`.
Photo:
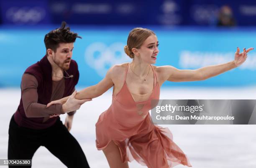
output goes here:
[[53, 61], [64, 70], [69, 69], [74, 43], [59, 43], [56, 52], [53, 52]]

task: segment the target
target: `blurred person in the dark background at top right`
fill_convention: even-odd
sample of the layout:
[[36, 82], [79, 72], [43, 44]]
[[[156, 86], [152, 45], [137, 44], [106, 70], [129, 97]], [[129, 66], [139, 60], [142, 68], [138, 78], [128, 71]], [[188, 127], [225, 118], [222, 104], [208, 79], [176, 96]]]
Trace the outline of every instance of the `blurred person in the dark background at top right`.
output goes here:
[[232, 9], [228, 6], [222, 6], [218, 14], [218, 26], [235, 26], [236, 20], [233, 16]]

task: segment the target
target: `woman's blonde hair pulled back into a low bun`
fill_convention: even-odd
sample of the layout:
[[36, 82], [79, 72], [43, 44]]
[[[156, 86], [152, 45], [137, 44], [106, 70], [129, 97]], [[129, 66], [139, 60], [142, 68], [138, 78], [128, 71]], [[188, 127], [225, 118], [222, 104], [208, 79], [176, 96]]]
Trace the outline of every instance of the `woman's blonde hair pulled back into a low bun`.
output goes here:
[[125, 53], [131, 58], [134, 58], [132, 48], [140, 48], [143, 42], [152, 34], [156, 35], [153, 31], [147, 28], [134, 28], [130, 31], [127, 38], [127, 45], [124, 46]]

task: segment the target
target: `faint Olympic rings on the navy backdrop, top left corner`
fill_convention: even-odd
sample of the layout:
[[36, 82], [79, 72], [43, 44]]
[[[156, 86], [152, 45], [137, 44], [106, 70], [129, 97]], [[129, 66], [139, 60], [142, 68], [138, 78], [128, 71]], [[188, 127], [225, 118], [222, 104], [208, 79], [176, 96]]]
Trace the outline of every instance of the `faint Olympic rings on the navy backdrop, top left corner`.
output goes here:
[[38, 23], [44, 19], [46, 11], [41, 7], [12, 7], [6, 11], [6, 18], [13, 23]]

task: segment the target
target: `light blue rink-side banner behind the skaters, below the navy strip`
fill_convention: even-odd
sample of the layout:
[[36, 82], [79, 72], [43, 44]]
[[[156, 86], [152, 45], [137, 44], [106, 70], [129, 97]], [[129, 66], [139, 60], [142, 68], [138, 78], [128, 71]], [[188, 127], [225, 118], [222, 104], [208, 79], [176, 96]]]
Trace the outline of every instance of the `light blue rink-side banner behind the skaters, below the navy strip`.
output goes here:
[[[0, 87], [20, 86], [23, 72], [46, 53], [44, 35], [56, 28], [0, 28]], [[82, 39], [74, 44], [73, 59], [80, 71], [79, 86], [97, 84], [114, 64], [129, 62], [123, 47], [132, 27], [72, 27]], [[234, 59], [236, 47], [255, 48], [256, 29], [166, 29], [151, 27], [159, 40], [156, 66], [197, 69]], [[246, 62], [231, 71], [205, 81], [166, 82], [164, 86], [249, 86], [256, 84], [256, 53], [248, 53]]]

